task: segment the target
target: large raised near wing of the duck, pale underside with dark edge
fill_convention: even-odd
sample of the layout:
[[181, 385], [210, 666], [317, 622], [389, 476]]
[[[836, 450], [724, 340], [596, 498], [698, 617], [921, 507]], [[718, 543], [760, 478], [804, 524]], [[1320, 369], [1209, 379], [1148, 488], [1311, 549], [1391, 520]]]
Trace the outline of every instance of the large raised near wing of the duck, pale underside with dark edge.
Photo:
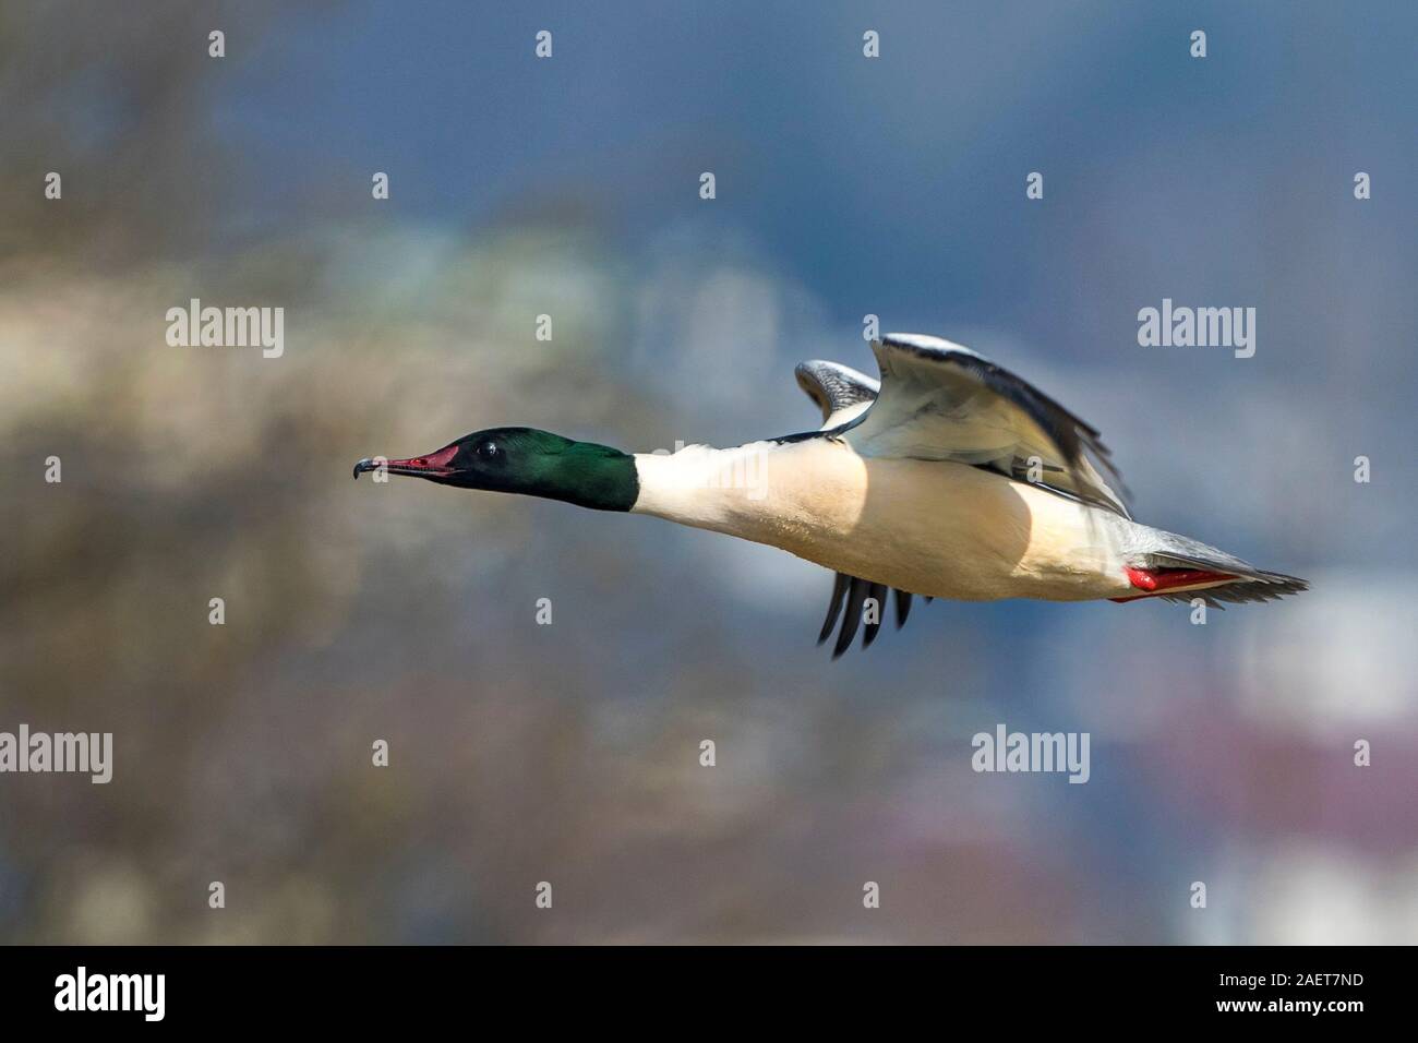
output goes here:
[[1098, 430], [1034, 385], [936, 336], [888, 333], [872, 351], [881, 392], [842, 433], [859, 454], [988, 467], [1130, 517]]

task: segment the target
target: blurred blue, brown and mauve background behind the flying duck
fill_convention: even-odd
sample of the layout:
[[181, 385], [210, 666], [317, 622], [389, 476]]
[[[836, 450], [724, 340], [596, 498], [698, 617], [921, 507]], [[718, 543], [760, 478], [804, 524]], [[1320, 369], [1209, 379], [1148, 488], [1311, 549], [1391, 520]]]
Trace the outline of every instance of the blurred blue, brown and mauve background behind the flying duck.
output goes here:
[[[115, 766], [0, 776], [0, 939], [1418, 939], [1415, 43], [1400, 1], [4, 0], [0, 729]], [[169, 346], [193, 297], [284, 307], [284, 356]], [[1164, 297], [1255, 307], [1255, 358], [1140, 348]], [[917, 603], [834, 664], [781, 552], [350, 481], [815, 427], [791, 368], [873, 372], [868, 312], [1313, 590]], [[1089, 783], [976, 775], [998, 722], [1090, 732]]]

